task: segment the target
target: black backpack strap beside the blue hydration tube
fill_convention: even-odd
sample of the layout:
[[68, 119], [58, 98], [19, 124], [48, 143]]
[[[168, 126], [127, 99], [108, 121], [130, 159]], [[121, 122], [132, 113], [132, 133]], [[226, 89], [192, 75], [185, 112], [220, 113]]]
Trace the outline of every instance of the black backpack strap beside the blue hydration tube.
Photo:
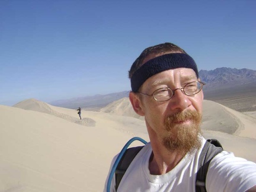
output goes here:
[[121, 179], [123, 178], [124, 173], [126, 172], [127, 168], [129, 167], [130, 163], [133, 161], [137, 153], [143, 148], [143, 146], [137, 146], [135, 148], [129, 148], [126, 150], [124, 155], [122, 156], [119, 164], [116, 168], [116, 190], [119, 187]]

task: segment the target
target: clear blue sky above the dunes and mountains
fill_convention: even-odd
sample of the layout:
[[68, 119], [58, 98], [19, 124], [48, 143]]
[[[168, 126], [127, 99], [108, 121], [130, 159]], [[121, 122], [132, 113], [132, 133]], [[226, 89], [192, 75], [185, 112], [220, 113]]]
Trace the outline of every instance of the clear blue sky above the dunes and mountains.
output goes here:
[[256, 1], [0, 1], [0, 104], [129, 91], [143, 49], [256, 70]]

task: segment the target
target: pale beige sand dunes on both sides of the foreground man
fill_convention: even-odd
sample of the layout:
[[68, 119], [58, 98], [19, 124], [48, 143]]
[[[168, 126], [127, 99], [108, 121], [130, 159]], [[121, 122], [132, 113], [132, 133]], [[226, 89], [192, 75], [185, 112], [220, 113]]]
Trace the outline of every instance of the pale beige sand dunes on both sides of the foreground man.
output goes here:
[[[255, 114], [206, 100], [203, 107], [204, 137], [256, 162]], [[103, 191], [113, 156], [132, 137], [149, 141], [128, 98], [81, 116], [34, 99], [0, 105], [0, 191]]]

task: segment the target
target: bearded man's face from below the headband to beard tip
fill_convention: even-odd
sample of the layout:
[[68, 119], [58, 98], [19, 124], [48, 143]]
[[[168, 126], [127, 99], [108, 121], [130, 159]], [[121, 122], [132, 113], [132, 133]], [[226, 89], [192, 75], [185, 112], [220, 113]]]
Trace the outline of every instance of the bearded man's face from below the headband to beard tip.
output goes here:
[[[197, 81], [193, 69], [169, 69], [147, 79], [140, 92], [151, 95], [156, 89], [182, 88]], [[140, 96], [141, 109], [151, 139], [159, 140], [170, 151], [189, 152], [200, 147], [198, 135], [202, 112], [203, 91], [193, 96], [183, 94], [180, 89], [168, 101], [155, 101], [153, 97]]]

